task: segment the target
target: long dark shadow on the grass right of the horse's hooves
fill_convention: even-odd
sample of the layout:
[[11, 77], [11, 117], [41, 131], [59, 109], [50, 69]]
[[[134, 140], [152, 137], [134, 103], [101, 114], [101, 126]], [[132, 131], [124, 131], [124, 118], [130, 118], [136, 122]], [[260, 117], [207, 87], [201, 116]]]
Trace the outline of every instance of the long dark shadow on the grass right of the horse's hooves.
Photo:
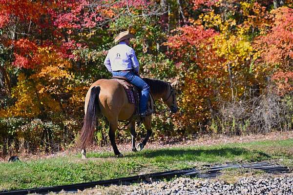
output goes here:
[[225, 147], [219, 149], [160, 149], [160, 150], [146, 150], [137, 153], [130, 153], [126, 155], [128, 157], [147, 157], [153, 158], [157, 156], [166, 156], [166, 157], [174, 157], [180, 158], [183, 157], [186, 160], [192, 160], [196, 157], [227, 157], [233, 158], [237, 156], [243, 156], [247, 161], [256, 161], [256, 160], [266, 160], [271, 158], [270, 155], [256, 150], [247, 150], [244, 148], [232, 148], [232, 147]]

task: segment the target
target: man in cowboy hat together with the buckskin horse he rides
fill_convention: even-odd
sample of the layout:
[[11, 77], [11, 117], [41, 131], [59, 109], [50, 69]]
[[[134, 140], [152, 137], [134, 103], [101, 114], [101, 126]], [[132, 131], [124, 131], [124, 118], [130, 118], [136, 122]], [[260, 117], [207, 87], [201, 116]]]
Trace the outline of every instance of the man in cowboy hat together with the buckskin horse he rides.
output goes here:
[[[139, 77], [139, 63], [136, 59], [134, 50], [129, 47], [129, 39], [134, 35], [129, 32], [122, 32], [115, 41], [119, 42], [108, 51], [105, 59], [105, 66], [113, 76], [127, 78], [133, 85], [142, 90], [140, 94], [139, 113], [146, 128], [146, 137], [135, 147], [135, 118], [136, 104], [129, 101], [124, 83], [117, 79], [99, 79], [95, 81], [87, 91], [84, 101], [84, 126], [77, 146], [82, 149], [82, 158], [86, 158], [85, 148], [92, 143], [96, 122], [99, 116], [105, 116], [109, 124], [108, 136], [116, 156], [123, 155], [117, 148], [115, 142], [115, 132], [118, 129], [118, 121], [129, 121], [131, 134], [132, 151], [142, 150], [149, 137], [151, 130], [151, 112], [147, 110], [148, 95], [151, 93], [153, 101], [161, 99], [169, 108], [171, 113], [178, 110], [173, 86], [177, 83], [165, 82], [153, 78]], [[153, 110], [153, 105], [151, 110]], [[166, 110], [167, 111], [167, 110]]]

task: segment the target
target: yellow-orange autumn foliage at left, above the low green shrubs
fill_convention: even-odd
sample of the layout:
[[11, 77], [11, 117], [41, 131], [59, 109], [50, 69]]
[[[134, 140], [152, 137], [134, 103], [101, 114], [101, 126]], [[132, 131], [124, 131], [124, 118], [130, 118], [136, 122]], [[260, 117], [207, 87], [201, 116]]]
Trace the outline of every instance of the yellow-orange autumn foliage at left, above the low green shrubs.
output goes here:
[[61, 59], [52, 47], [39, 47], [36, 55], [40, 59], [36, 72], [29, 78], [23, 73], [19, 75], [18, 84], [12, 90], [12, 97], [17, 101], [7, 110], [0, 110], [1, 116], [37, 117], [43, 112], [60, 112], [59, 99], [52, 95], [63, 93], [68, 80], [73, 78], [69, 72], [71, 64]]

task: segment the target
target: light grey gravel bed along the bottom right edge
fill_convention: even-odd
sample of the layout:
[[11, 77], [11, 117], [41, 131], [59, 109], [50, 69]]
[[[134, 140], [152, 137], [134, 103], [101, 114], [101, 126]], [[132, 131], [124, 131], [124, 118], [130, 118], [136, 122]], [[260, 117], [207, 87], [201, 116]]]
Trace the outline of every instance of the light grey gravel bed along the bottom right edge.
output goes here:
[[176, 178], [120, 186], [122, 195], [293, 195], [293, 178], [240, 178], [233, 184], [210, 179]]

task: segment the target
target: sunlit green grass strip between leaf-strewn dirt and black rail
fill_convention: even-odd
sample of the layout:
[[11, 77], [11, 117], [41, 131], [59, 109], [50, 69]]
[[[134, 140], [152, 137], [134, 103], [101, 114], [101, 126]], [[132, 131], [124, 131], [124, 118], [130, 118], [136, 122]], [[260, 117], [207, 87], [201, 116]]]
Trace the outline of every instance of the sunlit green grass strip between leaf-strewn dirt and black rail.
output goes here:
[[108, 152], [88, 153], [87, 160], [76, 155], [0, 163], [0, 191], [112, 179], [194, 166], [200, 168], [203, 164], [226, 162], [275, 161], [282, 158], [286, 165], [293, 167], [293, 139], [144, 150], [124, 155], [124, 158], [117, 158]]

